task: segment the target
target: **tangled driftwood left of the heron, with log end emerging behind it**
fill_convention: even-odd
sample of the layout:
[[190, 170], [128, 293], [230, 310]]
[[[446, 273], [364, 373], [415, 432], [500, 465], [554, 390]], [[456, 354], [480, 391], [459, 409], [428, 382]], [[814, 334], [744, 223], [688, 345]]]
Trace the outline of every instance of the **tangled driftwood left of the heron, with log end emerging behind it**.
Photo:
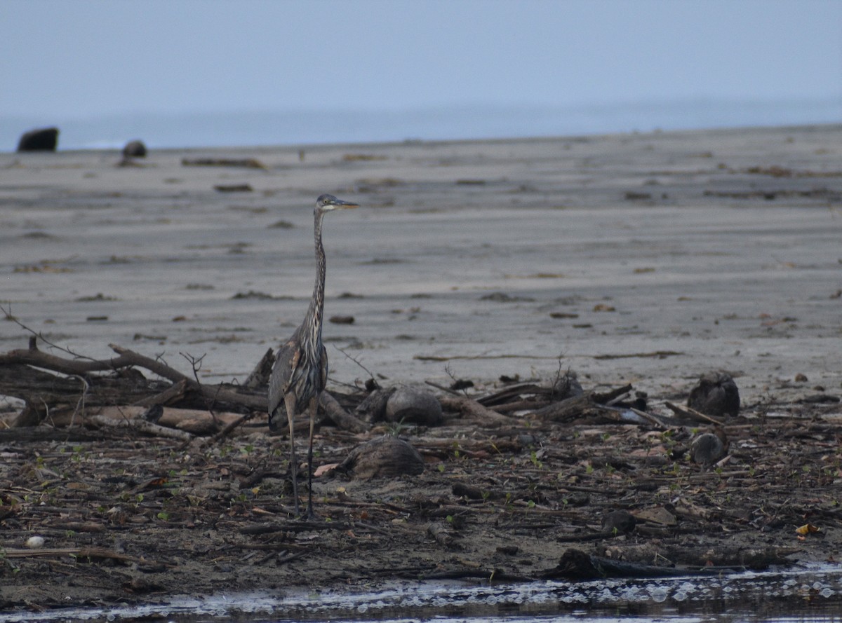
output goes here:
[[[271, 350], [249, 376], [248, 388], [243, 388], [200, 383], [160, 359], [109, 346], [116, 353], [110, 359], [65, 358], [41, 351], [32, 337], [29, 348], [0, 354], [0, 394], [25, 402], [12, 425], [31, 427], [48, 420], [51, 425], [127, 428], [184, 441], [194, 434], [216, 433], [218, 441], [266, 413], [266, 381], [274, 362]], [[141, 370], [158, 378], [147, 378]], [[355, 433], [369, 429], [329, 393], [322, 393], [320, 404], [339, 428]], [[155, 407], [166, 407], [158, 425], [141, 418]], [[103, 409], [115, 409], [115, 414], [109, 417]], [[218, 409], [227, 412], [221, 419]]]

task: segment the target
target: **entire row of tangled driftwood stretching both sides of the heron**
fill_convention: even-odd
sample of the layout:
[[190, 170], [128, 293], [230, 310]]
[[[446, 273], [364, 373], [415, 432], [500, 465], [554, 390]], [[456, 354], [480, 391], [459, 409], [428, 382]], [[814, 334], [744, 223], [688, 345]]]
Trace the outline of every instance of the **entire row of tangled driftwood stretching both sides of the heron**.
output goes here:
[[[52, 425], [123, 427], [152, 435], [167, 435], [163, 430], [176, 428], [179, 431], [174, 436], [185, 441], [193, 435], [214, 436], [218, 441], [229, 436], [237, 426], [266, 413], [266, 384], [274, 363], [271, 349], [240, 386], [200, 383], [198, 377], [179, 372], [161, 358], [114, 344], [109, 346], [115, 356], [108, 359], [64, 357], [40, 351], [33, 337], [29, 348], [0, 354], [0, 394], [25, 402], [13, 426], [34, 426], [48, 420]], [[153, 377], [147, 378], [146, 372], [151, 372]], [[633, 412], [636, 415], [632, 417], [637, 420], [632, 421], [637, 424], [664, 426], [662, 418], [619, 404], [632, 391], [631, 385], [605, 393], [581, 393], [575, 373], [569, 371], [551, 387], [520, 383], [484, 397], [472, 398], [451, 388], [440, 390], [443, 393], [438, 397], [433, 394], [428, 397], [421, 390], [410, 392], [410, 399], [404, 399], [400, 409], [392, 409], [395, 413], [391, 419], [403, 421], [407, 409], [411, 411], [418, 406], [416, 403], [426, 405], [420, 399], [429, 398], [427, 402], [432, 401], [438, 417], [424, 420], [424, 425], [438, 424], [440, 405], [443, 411], [459, 414], [462, 420], [471, 420], [485, 428], [517, 428], [523, 420], [514, 415], [515, 411], [525, 411], [527, 418], [556, 423], [589, 417], [598, 423], [627, 422], [630, 421], [627, 415]], [[390, 400], [400, 391], [401, 388], [377, 388], [367, 399], [360, 393], [340, 395], [343, 404], [324, 392], [320, 406], [338, 428], [363, 433], [370, 430], [373, 420], [388, 415]], [[99, 418], [104, 414], [102, 409], [117, 409], [116, 419], [120, 423]], [[161, 422], [150, 414], [141, 418], [146, 409], [156, 409], [158, 416], [168, 415]], [[350, 411], [364, 414], [366, 421]], [[223, 420], [219, 419], [220, 413], [227, 414]], [[303, 420], [296, 422], [296, 426], [305, 424]]]

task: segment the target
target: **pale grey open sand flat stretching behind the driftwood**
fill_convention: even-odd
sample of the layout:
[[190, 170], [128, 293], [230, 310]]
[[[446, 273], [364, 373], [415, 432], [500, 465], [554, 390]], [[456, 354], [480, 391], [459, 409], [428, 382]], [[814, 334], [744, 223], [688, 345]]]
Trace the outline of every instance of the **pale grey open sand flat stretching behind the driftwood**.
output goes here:
[[[182, 164], [204, 157], [265, 168]], [[332, 383], [367, 376], [342, 351], [389, 382], [842, 382], [842, 126], [119, 160], [0, 155], [0, 301], [86, 356], [242, 379], [300, 322], [329, 192], [362, 205], [325, 222], [325, 313], [354, 318], [325, 327]]]

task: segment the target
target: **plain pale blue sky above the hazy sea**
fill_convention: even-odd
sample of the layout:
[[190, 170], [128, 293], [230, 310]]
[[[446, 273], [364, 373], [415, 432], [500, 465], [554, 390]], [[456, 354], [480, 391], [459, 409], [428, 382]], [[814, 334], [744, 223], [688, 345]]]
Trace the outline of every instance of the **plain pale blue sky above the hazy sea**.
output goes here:
[[2, 0], [0, 115], [842, 101], [842, 0]]

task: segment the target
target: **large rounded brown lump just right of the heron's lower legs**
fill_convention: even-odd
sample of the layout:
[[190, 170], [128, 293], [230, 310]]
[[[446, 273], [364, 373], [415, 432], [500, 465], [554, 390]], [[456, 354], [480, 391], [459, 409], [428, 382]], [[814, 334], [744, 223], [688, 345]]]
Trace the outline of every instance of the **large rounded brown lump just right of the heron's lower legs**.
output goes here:
[[336, 470], [353, 478], [394, 478], [424, 472], [424, 459], [407, 441], [382, 436], [356, 446]]

